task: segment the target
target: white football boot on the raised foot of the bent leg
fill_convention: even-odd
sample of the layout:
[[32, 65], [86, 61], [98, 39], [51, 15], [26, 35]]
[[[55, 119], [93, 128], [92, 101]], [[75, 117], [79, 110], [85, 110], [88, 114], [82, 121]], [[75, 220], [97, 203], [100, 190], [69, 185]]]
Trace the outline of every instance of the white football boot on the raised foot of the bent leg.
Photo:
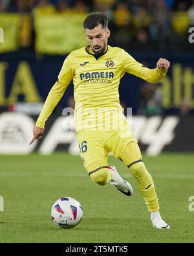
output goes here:
[[129, 182], [121, 178], [114, 166], [109, 167], [109, 170], [111, 171], [111, 174], [113, 176], [112, 180], [109, 181], [109, 183], [111, 185], [114, 185], [116, 189], [124, 193], [126, 196], [131, 196], [133, 194], [133, 188], [131, 187]]

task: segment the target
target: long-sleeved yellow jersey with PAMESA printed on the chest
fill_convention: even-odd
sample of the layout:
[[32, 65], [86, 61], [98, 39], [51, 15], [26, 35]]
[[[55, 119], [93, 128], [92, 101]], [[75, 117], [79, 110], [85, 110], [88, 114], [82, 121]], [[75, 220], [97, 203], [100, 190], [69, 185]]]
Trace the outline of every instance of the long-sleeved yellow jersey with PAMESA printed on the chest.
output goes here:
[[[155, 69], [144, 67], [119, 47], [108, 45], [107, 51], [100, 56], [91, 52], [90, 47], [72, 51], [63, 63], [58, 81], [48, 93], [36, 126], [39, 128], [45, 126], [45, 122], [71, 80], [74, 84], [76, 130], [110, 128], [110, 124], [115, 123], [116, 120], [124, 120], [118, 87], [120, 79], [126, 72], [147, 82], [158, 82], [166, 76], [167, 71], [162, 71], [158, 67]], [[118, 119], [113, 118], [115, 113]]]

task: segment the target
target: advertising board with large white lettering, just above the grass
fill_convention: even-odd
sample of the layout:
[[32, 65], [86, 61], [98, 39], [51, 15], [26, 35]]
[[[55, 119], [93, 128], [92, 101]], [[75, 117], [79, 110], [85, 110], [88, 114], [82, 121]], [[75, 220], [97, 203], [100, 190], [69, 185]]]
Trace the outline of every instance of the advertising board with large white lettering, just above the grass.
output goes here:
[[[36, 118], [35, 118], [36, 119]], [[132, 130], [140, 147], [149, 156], [161, 152], [194, 151], [193, 117], [134, 116]], [[48, 120], [43, 139], [28, 145], [34, 119], [23, 113], [5, 112], [0, 115], [0, 154], [52, 154], [55, 150], [68, 150], [72, 155], [80, 154], [74, 117], [54, 117]], [[185, 130], [185, 127], [188, 127]]]

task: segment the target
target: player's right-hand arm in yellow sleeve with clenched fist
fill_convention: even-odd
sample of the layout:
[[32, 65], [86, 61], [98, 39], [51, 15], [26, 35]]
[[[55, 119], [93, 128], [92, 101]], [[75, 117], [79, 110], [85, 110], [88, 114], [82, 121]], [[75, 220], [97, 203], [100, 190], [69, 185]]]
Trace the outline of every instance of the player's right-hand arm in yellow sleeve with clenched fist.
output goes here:
[[155, 83], [166, 76], [170, 62], [165, 58], [160, 58], [155, 69], [149, 69], [140, 62], [137, 62], [131, 55], [124, 52], [124, 69], [127, 73], [138, 76], [147, 82]]

